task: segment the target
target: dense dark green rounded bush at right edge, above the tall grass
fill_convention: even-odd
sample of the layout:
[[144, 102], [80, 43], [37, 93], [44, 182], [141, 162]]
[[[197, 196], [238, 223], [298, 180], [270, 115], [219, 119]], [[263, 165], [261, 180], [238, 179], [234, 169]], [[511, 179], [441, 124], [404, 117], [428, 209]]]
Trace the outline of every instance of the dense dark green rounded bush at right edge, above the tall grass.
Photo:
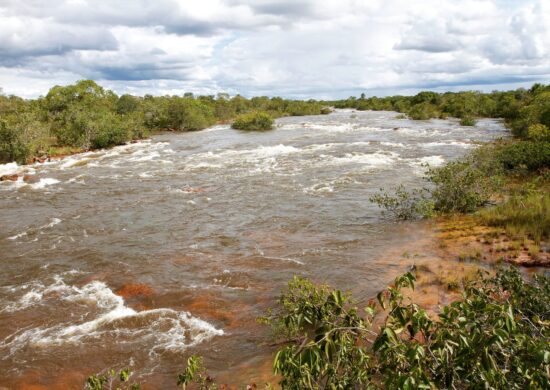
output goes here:
[[506, 169], [536, 171], [550, 167], [550, 143], [518, 141], [502, 147], [499, 159]]

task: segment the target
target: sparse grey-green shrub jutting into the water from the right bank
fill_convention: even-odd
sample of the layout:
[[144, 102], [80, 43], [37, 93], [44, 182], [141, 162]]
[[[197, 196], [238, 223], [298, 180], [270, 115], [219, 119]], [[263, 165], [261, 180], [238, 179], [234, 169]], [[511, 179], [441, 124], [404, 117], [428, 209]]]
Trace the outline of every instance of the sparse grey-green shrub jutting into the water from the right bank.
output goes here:
[[426, 190], [409, 192], [401, 185], [395, 190], [395, 195], [390, 195], [381, 188], [380, 193], [369, 200], [384, 208], [384, 214], [395, 219], [409, 220], [433, 215], [433, 202], [428, 195]]

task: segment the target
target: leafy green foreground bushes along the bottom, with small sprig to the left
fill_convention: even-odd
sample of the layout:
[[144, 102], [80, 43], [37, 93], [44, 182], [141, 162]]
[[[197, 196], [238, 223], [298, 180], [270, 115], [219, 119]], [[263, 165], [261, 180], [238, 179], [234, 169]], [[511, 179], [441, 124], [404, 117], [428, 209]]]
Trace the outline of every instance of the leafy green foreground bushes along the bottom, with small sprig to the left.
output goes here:
[[[462, 299], [435, 318], [406, 298], [415, 279], [412, 273], [397, 278], [377, 301], [360, 308], [349, 294], [295, 277], [277, 311], [263, 319], [283, 345], [273, 363], [279, 385], [549, 388], [550, 278], [526, 281], [515, 269], [478, 276], [466, 282]], [[195, 356], [177, 383], [183, 389], [227, 388], [218, 387]]]

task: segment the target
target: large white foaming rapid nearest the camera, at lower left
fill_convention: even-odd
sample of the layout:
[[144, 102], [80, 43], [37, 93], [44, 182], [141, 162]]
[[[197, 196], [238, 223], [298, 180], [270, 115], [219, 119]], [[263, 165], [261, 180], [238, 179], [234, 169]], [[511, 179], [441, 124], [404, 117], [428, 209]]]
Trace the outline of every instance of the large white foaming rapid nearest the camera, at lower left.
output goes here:
[[61, 277], [56, 276], [55, 282], [49, 286], [35, 284], [19, 299], [15, 308], [22, 310], [42, 302], [52, 305], [52, 300], [62, 301], [57, 303], [64, 306], [73, 305], [75, 310], [85, 314], [75, 315], [74, 318], [79, 318], [76, 321], [25, 329], [7, 337], [0, 342], [0, 351], [4, 350], [0, 359], [27, 347], [50, 349], [102, 337], [116, 337], [117, 342], [125, 344], [149, 344], [147, 348], [154, 356], [166, 350], [182, 351], [224, 334], [223, 330], [186, 311], [169, 308], [136, 311], [126, 306], [121, 296], [100, 281], [76, 287], [65, 284]]

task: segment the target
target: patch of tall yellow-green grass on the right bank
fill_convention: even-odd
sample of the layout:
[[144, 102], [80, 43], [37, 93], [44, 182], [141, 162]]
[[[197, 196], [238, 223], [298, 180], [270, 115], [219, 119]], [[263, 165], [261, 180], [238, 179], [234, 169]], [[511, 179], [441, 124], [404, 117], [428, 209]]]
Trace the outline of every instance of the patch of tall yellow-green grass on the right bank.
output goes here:
[[483, 224], [503, 227], [511, 237], [529, 237], [538, 244], [550, 236], [550, 195], [537, 192], [513, 196], [480, 211], [478, 216]]

